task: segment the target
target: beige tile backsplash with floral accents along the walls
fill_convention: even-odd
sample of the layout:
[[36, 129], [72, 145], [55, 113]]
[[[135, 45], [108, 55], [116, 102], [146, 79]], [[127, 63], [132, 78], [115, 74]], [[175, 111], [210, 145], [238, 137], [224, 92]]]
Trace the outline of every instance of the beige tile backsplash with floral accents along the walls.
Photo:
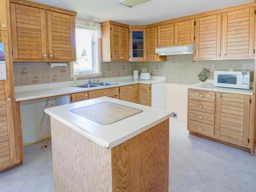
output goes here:
[[[103, 77], [132, 76], [134, 70], [147, 68], [152, 76], [165, 76], [167, 83], [194, 84], [206, 67], [213, 79], [215, 70], [254, 70], [254, 60], [193, 61], [193, 55], [168, 56], [165, 62], [102, 62]], [[70, 66], [50, 68], [48, 62], [13, 62], [15, 86], [72, 81]], [[82, 80], [86, 78], [78, 78]]]

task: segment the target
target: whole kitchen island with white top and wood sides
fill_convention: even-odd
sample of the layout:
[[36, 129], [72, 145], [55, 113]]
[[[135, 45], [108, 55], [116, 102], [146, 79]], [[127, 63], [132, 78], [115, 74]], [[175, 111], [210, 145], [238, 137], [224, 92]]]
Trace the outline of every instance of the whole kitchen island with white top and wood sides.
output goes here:
[[168, 191], [173, 113], [109, 97], [45, 112], [55, 191]]

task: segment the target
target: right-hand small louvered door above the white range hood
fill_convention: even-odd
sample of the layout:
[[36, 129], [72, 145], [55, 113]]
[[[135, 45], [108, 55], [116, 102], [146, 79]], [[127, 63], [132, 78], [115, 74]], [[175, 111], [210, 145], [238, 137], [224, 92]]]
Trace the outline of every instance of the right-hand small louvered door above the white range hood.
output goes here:
[[195, 19], [175, 23], [174, 44], [186, 45], [194, 43]]

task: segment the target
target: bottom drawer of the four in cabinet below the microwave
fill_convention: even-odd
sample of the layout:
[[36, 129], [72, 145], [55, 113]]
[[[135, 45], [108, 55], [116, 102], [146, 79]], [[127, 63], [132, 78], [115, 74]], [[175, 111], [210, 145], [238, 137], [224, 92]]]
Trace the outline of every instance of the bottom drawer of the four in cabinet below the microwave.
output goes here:
[[214, 126], [189, 120], [188, 130], [207, 136], [214, 136]]

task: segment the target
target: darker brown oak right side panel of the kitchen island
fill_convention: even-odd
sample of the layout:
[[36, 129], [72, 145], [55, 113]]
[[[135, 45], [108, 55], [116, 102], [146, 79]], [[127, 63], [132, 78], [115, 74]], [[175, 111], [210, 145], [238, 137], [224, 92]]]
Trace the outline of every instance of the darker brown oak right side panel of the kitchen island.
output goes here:
[[112, 148], [113, 192], [167, 192], [169, 119]]

